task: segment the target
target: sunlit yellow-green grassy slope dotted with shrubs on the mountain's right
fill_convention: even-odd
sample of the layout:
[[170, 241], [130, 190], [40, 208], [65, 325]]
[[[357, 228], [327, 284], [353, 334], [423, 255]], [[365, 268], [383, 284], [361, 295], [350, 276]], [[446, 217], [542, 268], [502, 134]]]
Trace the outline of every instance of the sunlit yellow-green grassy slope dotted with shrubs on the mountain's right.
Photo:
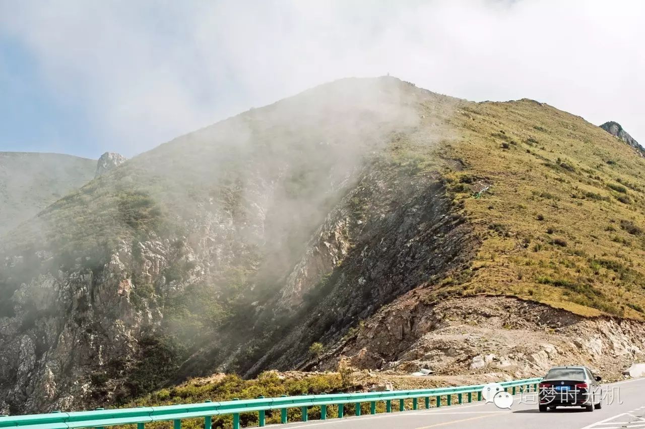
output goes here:
[[[453, 124], [462, 135], [446, 154], [468, 168], [448, 177], [482, 238], [459, 288], [642, 319], [645, 160], [581, 117], [526, 99], [464, 103]], [[489, 192], [473, 198], [482, 184]]]

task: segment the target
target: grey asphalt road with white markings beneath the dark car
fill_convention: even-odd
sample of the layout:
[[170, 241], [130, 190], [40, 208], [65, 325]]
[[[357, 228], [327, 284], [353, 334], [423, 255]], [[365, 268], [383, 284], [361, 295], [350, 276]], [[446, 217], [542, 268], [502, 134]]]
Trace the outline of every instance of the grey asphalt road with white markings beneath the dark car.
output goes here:
[[[603, 386], [606, 392], [602, 409], [585, 412], [582, 408], [558, 408], [539, 412], [534, 397], [515, 395], [513, 406], [500, 410], [493, 403], [443, 406], [430, 410], [363, 415], [308, 423], [276, 425], [280, 428], [312, 429], [430, 429], [430, 428], [578, 428], [645, 429], [645, 378], [630, 379]], [[530, 394], [529, 394], [530, 395]], [[421, 403], [421, 401], [419, 401]]]

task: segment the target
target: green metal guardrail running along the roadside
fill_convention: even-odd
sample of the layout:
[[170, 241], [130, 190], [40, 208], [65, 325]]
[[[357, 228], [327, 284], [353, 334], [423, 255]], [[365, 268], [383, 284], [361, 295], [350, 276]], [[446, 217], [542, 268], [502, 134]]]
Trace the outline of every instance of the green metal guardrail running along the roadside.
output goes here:
[[[515, 394], [517, 388], [520, 392], [537, 392], [537, 383], [541, 378], [504, 381], [499, 383], [504, 390], [511, 390]], [[204, 418], [204, 428], [211, 429], [212, 416], [233, 415], [233, 429], [240, 428], [240, 413], [259, 413], [259, 425], [264, 426], [267, 410], [281, 410], [281, 422], [287, 423], [287, 408], [301, 408], [303, 421], [307, 421], [307, 410], [310, 406], [321, 407], [321, 419], [327, 419], [327, 406], [338, 406], [338, 417], [344, 415], [344, 404], [355, 403], [356, 415], [361, 415], [361, 403], [370, 403], [370, 413], [376, 414], [376, 403], [385, 401], [386, 412], [392, 412], [392, 401], [399, 400], [399, 411], [404, 410], [404, 400], [412, 399], [412, 409], [417, 410], [418, 399], [425, 400], [425, 407], [430, 408], [430, 398], [435, 398], [435, 405], [441, 406], [441, 398], [446, 397], [446, 405], [452, 405], [453, 395], [457, 395], [457, 402], [473, 401], [473, 394], [477, 401], [481, 401], [481, 390], [484, 384], [471, 386], [456, 386], [433, 389], [417, 390], [391, 390], [385, 392], [367, 392], [356, 394], [323, 394], [301, 395], [275, 398], [248, 399], [244, 401], [206, 401], [199, 404], [148, 406], [139, 408], [117, 408], [114, 410], [81, 411], [81, 412], [54, 412], [51, 414], [32, 414], [16, 416], [0, 416], [0, 428], [28, 428], [28, 429], [70, 429], [70, 428], [97, 428], [117, 426], [121, 424], [137, 424], [137, 429], [144, 429], [146, 423], [155, 421], [172, 421], [174, 429], [181, 429], [182, 419]]]

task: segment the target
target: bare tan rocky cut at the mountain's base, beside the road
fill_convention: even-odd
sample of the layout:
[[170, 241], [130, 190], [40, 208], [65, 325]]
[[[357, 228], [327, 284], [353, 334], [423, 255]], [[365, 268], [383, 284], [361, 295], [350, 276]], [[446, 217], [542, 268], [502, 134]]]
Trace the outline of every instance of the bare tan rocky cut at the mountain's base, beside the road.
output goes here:
[[331, 370], [341, 359], [360, 369], [435, 375], [544, 375], [556, 364], [588, 364], [606, 376], [645, 357], [645, 324], [586, 319], [514, 298], [470, 297], [423, 304], [415, 291], [383, 308], [339, 348], [304, 368]]

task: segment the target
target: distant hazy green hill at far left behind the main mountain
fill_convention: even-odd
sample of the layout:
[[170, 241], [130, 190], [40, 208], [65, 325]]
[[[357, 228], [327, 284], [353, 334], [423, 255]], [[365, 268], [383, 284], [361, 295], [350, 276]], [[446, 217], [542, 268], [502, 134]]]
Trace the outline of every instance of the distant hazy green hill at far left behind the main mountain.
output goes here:
[[0, 152], [0, 236], [88, 183], [95, 165], [72, 155]]

